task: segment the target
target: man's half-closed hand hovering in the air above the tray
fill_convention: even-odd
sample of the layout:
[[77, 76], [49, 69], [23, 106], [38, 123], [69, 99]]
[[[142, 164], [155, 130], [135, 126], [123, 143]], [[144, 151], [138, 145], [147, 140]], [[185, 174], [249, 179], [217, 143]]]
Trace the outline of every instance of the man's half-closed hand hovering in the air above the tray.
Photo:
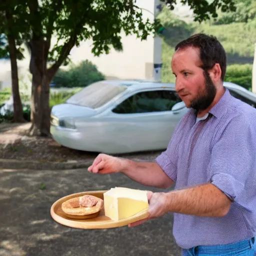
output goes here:
[[107, 154], [98, 154], [92, 165], [88, 167], [89, 172], [93, 173], [114, 173], [123, 168], [124, 159]]

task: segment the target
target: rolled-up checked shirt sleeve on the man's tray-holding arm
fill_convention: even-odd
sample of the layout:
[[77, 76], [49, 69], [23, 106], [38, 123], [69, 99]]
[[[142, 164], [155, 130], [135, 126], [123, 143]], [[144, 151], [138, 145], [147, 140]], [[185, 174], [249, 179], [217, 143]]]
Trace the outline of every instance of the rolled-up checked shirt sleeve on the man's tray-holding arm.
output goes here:
[[234, 117], [211, 151], [208, 180], [231, 200], [244, 204], [246, 182], [255, 172], [255, 134], [249, 122]]

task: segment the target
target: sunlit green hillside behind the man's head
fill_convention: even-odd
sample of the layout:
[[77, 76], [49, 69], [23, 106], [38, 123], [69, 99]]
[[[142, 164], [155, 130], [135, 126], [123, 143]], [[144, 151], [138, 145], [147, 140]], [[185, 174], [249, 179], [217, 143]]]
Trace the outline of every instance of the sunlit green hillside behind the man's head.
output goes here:
[[238, 84], [250, 89], [254, 43], [256, 43], [256, 19], [229, 24], [214, 24], [212, 21], [201, 24], [186, 23], [167, 9], [163, 9], [158, 18], [165, 28], [161, 35], [163, 82], [175, 80], [170, 63], [176, 43], [191, 34], [203, 32], [216, 36], [225, 48], [228, 64], [226, 80], [239, 82]]

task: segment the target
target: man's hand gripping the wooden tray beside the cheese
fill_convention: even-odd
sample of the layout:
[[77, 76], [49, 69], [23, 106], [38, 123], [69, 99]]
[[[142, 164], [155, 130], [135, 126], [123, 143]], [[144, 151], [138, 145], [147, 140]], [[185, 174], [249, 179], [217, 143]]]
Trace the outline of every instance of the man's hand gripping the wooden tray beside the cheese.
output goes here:
[[129, 227], [139, 225], [151, 218], [161, 217], [168, 211], [166, 193], [163, 193], [163, 192], [153, 193], [152, 191], [148, 191], [147, 199], [149, 202], [148, 212], [150, 215], [145, 219], [141, 219], [136, 222], [128, 224]]

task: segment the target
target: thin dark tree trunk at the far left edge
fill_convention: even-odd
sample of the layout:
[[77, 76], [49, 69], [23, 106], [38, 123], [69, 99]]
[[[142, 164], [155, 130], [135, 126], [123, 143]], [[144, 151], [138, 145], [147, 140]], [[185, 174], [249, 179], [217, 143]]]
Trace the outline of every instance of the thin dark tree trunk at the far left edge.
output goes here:
[[17, 49], [15, 45], [15, 39], [11, 34], [7, 35], [10, 54], [11, 65], [11, 90], [13, 97], [13, 121], [24, 122], [23, 108], [19, 95], [18, 88], [18, 68], [17, 68]]

